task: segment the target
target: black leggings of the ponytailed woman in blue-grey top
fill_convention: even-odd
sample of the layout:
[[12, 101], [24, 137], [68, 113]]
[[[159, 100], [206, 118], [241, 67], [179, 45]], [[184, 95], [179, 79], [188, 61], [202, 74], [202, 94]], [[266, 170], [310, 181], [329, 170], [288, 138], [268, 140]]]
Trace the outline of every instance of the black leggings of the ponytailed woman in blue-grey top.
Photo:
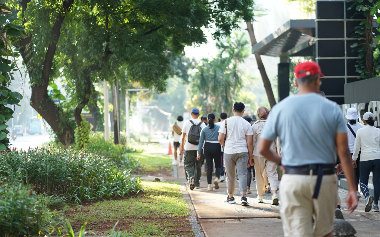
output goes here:
[[207, 184], [211, 184], [212, 178], [212, 159], [215, 162], [215, 177], [220, 177], [220, 169], [222, 167], [222, 150], [220, 143], [204, 143], [203, 155], [207, 165]]

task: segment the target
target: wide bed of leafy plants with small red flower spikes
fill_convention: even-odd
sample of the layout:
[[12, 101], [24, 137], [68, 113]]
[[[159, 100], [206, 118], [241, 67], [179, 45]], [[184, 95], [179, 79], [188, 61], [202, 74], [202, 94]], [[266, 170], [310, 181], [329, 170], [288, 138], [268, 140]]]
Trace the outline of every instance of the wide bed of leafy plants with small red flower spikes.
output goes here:
[[66, 195], [77, 203], [138, 193], [140, 181], [130, 172], [118, 171], [110, 157], [73, 148], [0, 152], [0, 182], [34, 184], [38, 194]]

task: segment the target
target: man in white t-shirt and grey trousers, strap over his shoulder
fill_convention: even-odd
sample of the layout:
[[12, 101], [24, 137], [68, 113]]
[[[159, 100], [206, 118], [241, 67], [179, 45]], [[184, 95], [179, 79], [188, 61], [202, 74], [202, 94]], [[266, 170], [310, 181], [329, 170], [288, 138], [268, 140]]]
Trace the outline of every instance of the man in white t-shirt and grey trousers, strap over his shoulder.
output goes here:
[[[241, 194], [241, 204], [247, 206], [247, 167], [252, 164], [253, 152], [253, 132], [247, 120], [242, 118], [244, 114], [244, 104], [235, 102], [233, 107], [234, 116], [226, 119], [225, 124], [219, 128], [218, 140], [224, 146], [224, 166], [227, 177], [227, 200], [226, 203], [235, 203], [235, 170], [239, 176], [239, 190]], [[225, 122], [224, 121], [224, 122]], [[226, 141], [224, 137], [226, 135]]]

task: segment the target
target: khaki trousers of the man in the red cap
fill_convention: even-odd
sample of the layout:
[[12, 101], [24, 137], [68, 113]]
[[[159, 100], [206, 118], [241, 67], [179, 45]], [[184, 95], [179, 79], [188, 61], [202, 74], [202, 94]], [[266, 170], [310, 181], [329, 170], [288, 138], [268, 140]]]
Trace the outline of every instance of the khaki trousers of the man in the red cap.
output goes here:
[[[316, 184], [316, 175], [282, 176], [280, 214], [285, 237], [319, 237], [332, 231], [339, 199], [337, 175], [324, 175], [318, 198], [313, 199]], [[314, 229], [312, 216], [315, 217]]]

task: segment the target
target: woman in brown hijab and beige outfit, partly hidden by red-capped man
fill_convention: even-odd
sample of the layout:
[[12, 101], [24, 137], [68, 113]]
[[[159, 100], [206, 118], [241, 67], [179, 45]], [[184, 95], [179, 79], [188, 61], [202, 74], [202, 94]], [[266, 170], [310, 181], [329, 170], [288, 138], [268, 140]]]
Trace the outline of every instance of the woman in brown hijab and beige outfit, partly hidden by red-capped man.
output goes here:
[[[265, 190], [265, 181], [264, 181], [264, 170], [268, 176], [269, 184], [272, 188], [272, 204], [278, 205], [279, 198], [277, 196], [277, 187], [279, 185], [279, 178], [277, 175], [277, 164], [266, 159], [258, 151], [258, 144], [260, 143], [260, 135], [265, 126], [266, 119], [269, 115], [269, 110], [265, 106], [260, 106], [257, 109], [258, 120], [252, 124], [253, 130], [253, 161], [255, 163], [255, 173], [256, 173], [256, 190], [257, 190], [257, 199], [259, 203], [263, 203], [263, 193]], [[273, 142], [271, 149], [274, 152], [277, 152], [276, 143]]]

